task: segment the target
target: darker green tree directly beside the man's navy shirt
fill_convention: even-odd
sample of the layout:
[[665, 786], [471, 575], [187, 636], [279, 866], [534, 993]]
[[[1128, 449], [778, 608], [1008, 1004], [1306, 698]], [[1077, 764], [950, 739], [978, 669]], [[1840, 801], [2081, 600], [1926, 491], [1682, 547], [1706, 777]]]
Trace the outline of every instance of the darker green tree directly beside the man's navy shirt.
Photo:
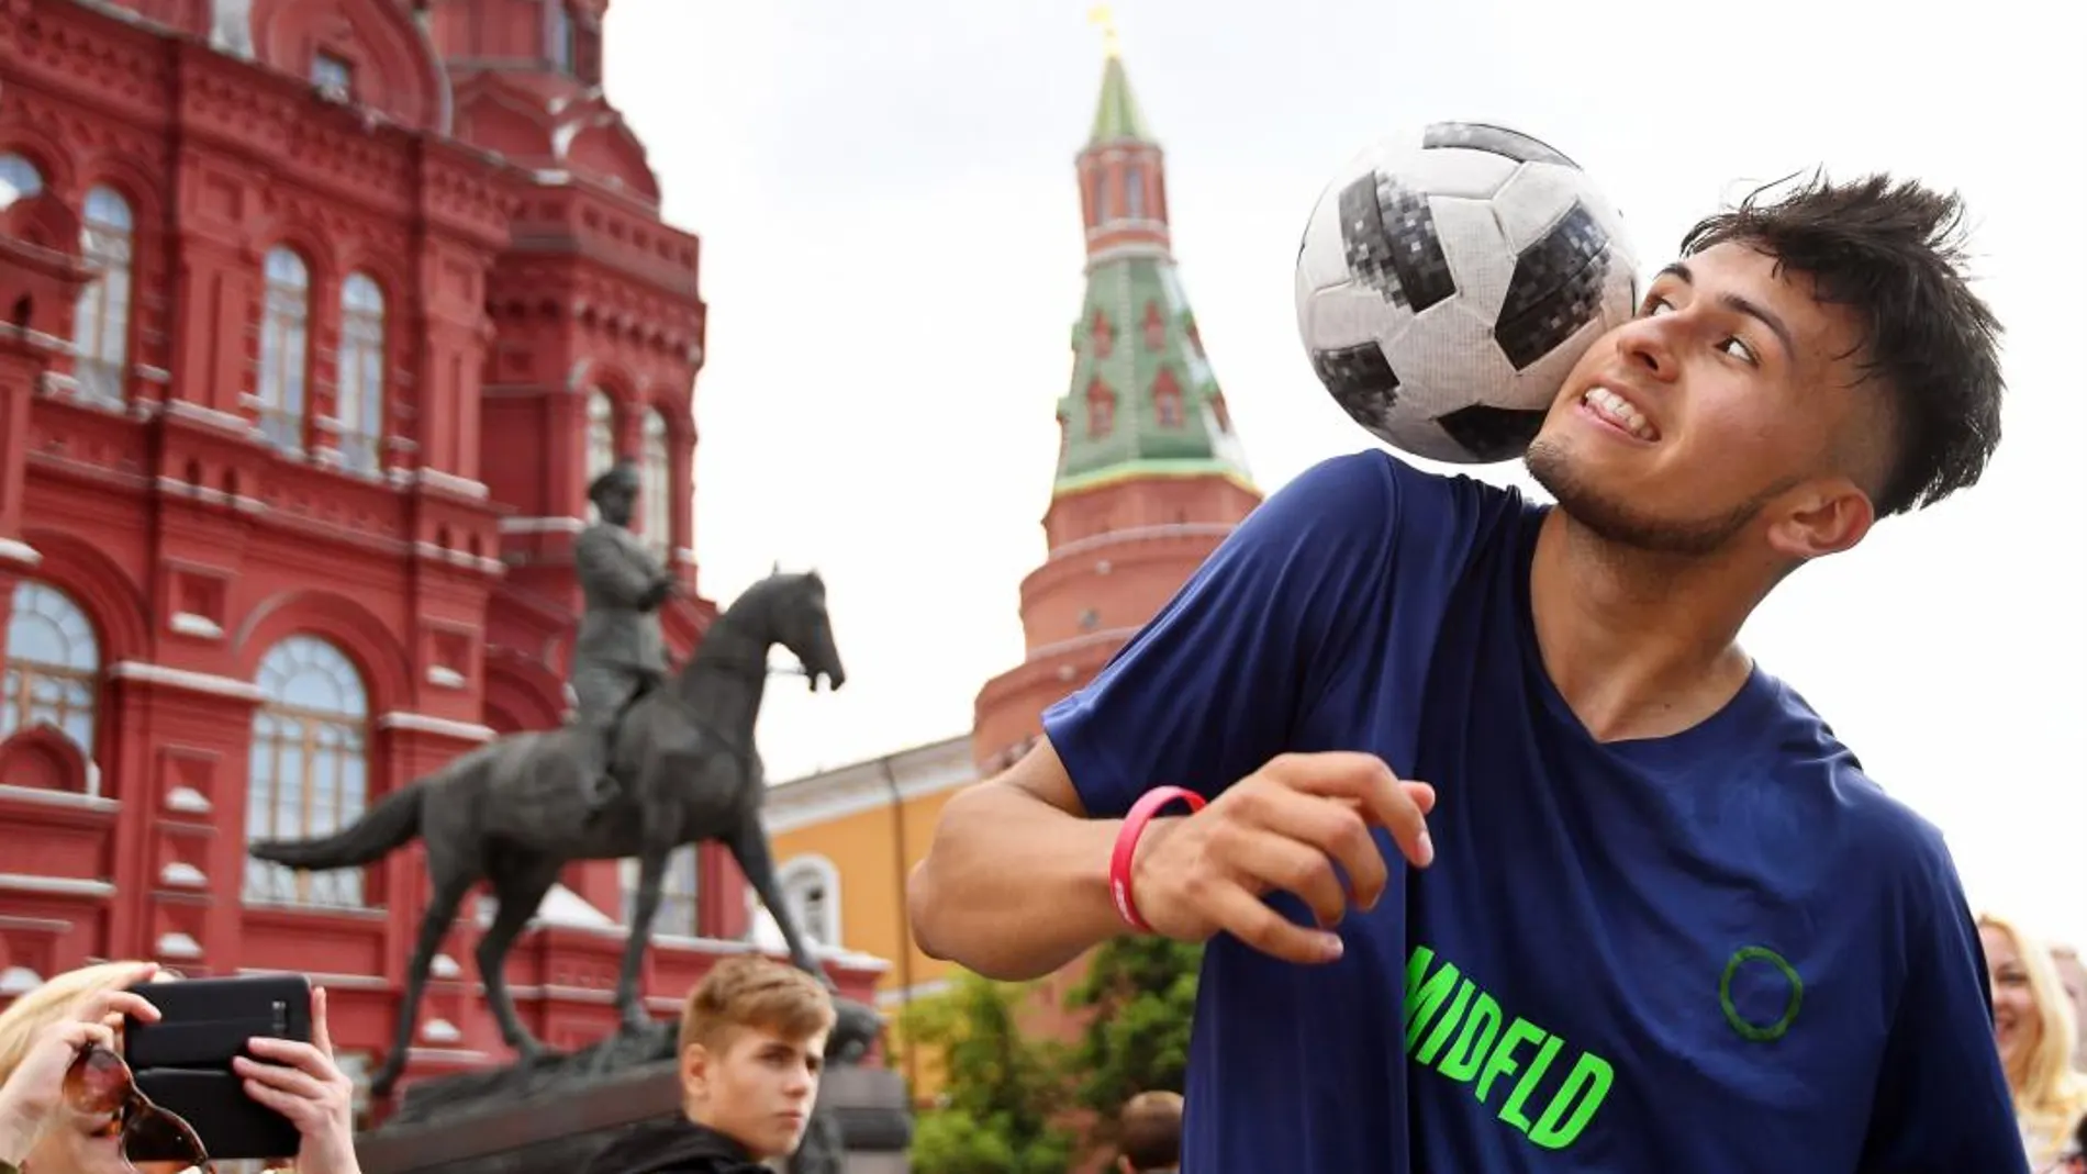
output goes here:
[[1069, 1009], [1089, 1011], [1071, 1053], [1073, 1097], [1098, 1114], [1102, 1139], [1133, 1095], [1181, 1091], [1200, 965], [1198, 945], [1121, 936], [1094, 951], [1087, 976], [1066, 993]]

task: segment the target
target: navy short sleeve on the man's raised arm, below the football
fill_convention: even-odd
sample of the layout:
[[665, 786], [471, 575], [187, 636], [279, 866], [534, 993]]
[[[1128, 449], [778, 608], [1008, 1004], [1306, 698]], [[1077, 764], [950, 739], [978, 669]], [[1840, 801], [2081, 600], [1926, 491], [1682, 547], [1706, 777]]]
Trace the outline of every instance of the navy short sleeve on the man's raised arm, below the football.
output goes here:
[[1284, 751], [1315, 663], [1386, 590], [1400, 475], [1384, 453], [1323, 461], [1246, 517], [1087, 688], [1044, 713], [1081, 805], [1215, 797]]

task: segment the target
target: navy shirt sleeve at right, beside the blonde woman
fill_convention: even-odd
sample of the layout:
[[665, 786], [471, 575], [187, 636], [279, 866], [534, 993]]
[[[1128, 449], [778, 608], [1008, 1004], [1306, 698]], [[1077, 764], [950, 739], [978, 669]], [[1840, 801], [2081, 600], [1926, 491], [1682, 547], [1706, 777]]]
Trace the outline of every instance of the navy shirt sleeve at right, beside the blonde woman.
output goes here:
[[1993, 1045], [1985, 947], [1941, 834], [1905, 905], [1905, 986], [1885, 1043], [1862, 1174], [2026, 1174]]

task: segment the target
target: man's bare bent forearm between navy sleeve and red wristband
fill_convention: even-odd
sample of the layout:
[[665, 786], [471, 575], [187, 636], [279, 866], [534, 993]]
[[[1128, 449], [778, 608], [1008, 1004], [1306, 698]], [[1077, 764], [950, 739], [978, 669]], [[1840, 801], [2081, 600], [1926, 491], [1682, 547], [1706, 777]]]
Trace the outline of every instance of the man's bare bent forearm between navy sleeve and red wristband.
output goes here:
[[1121, 826], [1004, 784], [956, 794], [906, 886], [914, 940], [987, 978], [1058, 970], [1125, 930], [1108, 897]]

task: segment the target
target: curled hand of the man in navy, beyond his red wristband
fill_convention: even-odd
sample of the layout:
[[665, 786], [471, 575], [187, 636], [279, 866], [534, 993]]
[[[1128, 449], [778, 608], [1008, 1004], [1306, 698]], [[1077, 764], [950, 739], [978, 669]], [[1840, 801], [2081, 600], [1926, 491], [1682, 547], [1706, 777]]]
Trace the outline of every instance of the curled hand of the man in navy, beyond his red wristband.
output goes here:
[[[1169, 938], [1200, 943], [1223, 930], [1288, 961], [1334, 961], [1340, 936], [1325, 926], [1350, 901], [1371, 909], [1390, 878], [1371, 828], [1428, 867], [1434, 799], [1432, 786], [1400, 780], [1375, 755], [1279, 755], [1202, 811], [1152, 822], [1131, 861], [1137, 911]], [[1321, 928], [1271, 909], [1263, 897], [1275, 888], [1296, 892]]]

